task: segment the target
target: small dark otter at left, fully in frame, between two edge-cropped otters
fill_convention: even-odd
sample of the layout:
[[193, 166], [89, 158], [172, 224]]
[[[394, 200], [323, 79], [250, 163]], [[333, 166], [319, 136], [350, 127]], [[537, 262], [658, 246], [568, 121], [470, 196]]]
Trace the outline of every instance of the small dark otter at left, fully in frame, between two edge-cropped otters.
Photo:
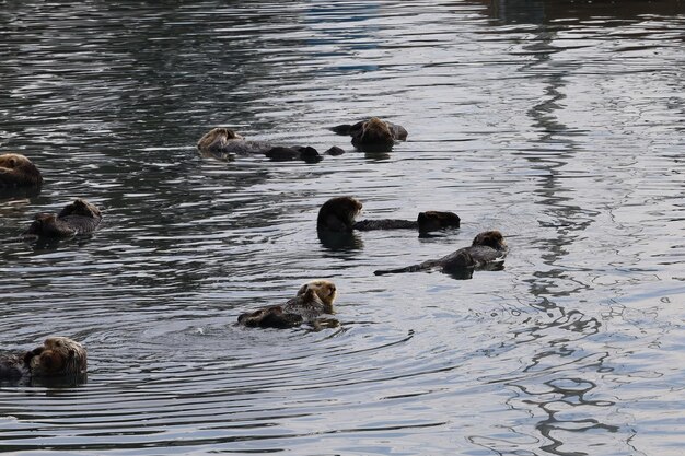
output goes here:
[[84, 199], [78, 198], [67, 204], [57, 215], [39, 213], [24, 237], [69, 237], [95, 231], [102, 222], [100, 210]]

